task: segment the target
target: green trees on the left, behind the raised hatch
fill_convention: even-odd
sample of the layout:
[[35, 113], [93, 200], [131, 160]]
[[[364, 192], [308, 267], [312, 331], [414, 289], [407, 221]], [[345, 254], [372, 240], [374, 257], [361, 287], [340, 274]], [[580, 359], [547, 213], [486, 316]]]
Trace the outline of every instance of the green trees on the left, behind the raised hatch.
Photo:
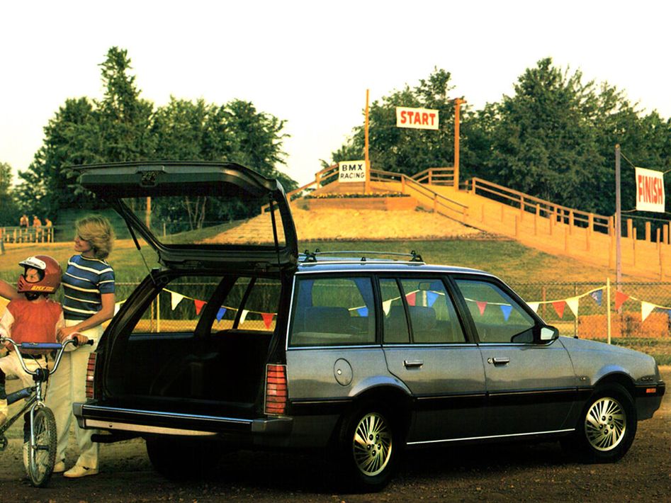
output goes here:
[[[102, 99], [67, 99], [44, 128], [42, 147], [18, 185], [11, 185], [11, 166], [0, 164], [0, 224], [18, 225], [22, 213], [57, 216], [63, 208], [97, 209], [102, 203], [77, 183], [72, 166], [138, 160], [230, 161], [252, 166], [280, 179], [287, 190], [297, 186], [278, 171], [285, 164], [285, 121], [234, 99], [219, 105], [203, 99], [171, 96], [165, 106], [141, 96], [128, 51], [111, 47], [100, 64]], [[247, 216], [244, 205], [184, 201], [196, 227], [203, 220]], [[162, 208], [153, 208], [161, 212]], [[166, 209], [166, 208], [163, 208]], [[174, 209], [174, 208], [173, 208]], [[186, 208], [185, 208], [186, 209]]]

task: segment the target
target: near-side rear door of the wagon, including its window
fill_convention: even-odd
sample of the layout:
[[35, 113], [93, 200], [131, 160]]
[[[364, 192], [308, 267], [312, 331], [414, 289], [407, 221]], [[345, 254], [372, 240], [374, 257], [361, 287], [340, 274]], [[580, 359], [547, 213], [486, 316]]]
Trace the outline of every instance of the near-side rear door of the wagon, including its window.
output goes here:
[[378, 278], [383, 349], [389, 371], [415, 402], [408, 443], [467, 438], [478, 433], [485, 373], [478, 346], [466, 339], [440, 276]]

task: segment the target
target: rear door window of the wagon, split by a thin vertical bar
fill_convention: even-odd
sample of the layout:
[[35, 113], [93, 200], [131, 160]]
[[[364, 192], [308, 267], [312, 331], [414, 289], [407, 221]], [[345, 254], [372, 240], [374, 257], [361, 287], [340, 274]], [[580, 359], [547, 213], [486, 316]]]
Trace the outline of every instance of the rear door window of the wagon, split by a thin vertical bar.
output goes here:
[[440, 279], [404, 278], [400, 280], [400, 286], [399, 289], [394, 279], [380, 280], [386, 343], [410, 341], [402, 296], [410, 315], [412, 342], [449, 344], [466, 341], [452, 300]]

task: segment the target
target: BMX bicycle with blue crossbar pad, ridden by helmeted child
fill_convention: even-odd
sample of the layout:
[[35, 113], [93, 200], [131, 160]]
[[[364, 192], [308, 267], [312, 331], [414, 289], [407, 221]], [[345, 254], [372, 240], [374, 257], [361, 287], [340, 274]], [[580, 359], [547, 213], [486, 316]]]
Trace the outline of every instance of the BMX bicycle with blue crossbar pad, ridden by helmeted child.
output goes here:
[[[22, 342], [21, 344], [16, 344], [9, 337], [0, 337], [0, 344], [4, 344], [5, 342], [9, 342], [13, 346], [16, 356], [18, 356], [18, 361], [21, 363], [21, 367], [23, 367], [23, 371], [33, 375], [35, 385], [7, 395], [8, 405], [18, 402], [22, 398], [26, 399], [26, 404], [16, 414], [7, 418], [5, 424], [0, 426], [0, 451], [4, 451], [9, 443], [5, 432], [16, 422], [16, 419], [26, 414], [28, 416], [27, 423], [30, 431], [30, 435], [28, 436], [28, 463], [26, 465], [26, 472], [32, 485], [35, 487], [45, 487], [54, 470], [57, 439], [56, 420], [51, 409], [45, 405], [43, 387], [47, 383], [49, 376], [57, 370], [64, 349], [69, 344], [77, 346], [77, 339], [67, 339], [63, 344], [58, 342]], [[93, 341], [89, 340], [85, 344], [93, 344]], [[39, 367], [34, 371], [29, 371], [26, 368], [26, 362], [23, 360], [24, 356], [21, 355], [21, 351], [28, 349], [55, 351], [55, 359], [51, 370], [47, 365], [46, 368]], [[26, 430], [24, 429], [24, 431]]]

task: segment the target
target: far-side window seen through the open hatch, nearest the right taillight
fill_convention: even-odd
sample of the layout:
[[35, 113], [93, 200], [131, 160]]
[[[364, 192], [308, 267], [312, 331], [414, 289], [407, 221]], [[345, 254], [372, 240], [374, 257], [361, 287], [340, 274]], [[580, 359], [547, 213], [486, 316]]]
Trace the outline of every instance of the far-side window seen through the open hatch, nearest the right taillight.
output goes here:
[[[245, 299], [247, 290], [249, 295]], [[230, 328], [273, 332], [280, 293], [281, 282], [277, 279], [237, 278], [219, 307], [212, 332]], [[234, 326], [236, 318], [238, 324]]]

